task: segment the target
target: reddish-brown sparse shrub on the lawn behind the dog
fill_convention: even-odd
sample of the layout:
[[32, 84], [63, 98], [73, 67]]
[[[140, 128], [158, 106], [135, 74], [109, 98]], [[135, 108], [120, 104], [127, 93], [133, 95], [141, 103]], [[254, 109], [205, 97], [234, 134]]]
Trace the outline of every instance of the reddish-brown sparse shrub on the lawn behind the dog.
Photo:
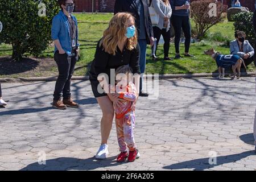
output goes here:
[[191, 3], [191, 18], [196, 25], [197, 39], [203, 39], [210, 27], [224, 19], [222, 13], [226, 12], [227, 8], [228, 6], [216, 0], [200, 0]]

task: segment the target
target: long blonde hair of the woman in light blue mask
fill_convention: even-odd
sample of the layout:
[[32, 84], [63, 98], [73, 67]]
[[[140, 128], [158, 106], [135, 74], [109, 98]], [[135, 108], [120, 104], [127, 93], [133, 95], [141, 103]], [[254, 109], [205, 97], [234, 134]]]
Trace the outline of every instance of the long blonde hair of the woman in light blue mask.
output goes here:
[[[104, 31], [103, 38], [100, 42], [100, 46], [103, 46], [105, 52], [115, 55], [118, 40], [122, 40], [127, 33], [126, 22], [129, 18], [133, 18], [135, 22], [133, 15], [130, 13], [118, 13], [110, 20], [109, 27]], [[127, 39], [126, 48], [131, 51], [136, 48], [137, 42], [137, 30], [135, 29], [135, 35]]]

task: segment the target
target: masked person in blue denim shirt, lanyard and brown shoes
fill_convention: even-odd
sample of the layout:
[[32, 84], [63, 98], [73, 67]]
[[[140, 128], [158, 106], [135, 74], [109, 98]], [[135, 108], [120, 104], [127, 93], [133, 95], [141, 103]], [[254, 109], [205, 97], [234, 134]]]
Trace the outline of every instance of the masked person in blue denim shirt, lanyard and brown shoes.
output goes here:
[[[52, 20], [52, 40], [55, 44], [54, 60], [59, 76], [53, 94], [55, 109], [78, 107], [71, 98], [71, 77], [79, 56], [78, 27], [75, 16], [72, 15], [75, 4], [72, 0], [59, 0], [61, 10]], [[63, 93], [63, 101], [61, 101]]]

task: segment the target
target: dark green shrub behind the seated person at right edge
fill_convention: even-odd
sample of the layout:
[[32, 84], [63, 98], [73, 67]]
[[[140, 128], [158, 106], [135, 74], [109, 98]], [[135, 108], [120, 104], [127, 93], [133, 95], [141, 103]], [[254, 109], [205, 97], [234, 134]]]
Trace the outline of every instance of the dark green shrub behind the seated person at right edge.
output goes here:
[[255, 34], [253, 27], [253, 13], [241, 12], [233, 15], [235, 30], [240, 30], [245, 32], [246, 39], [249, 40], [251, 45], [254, 45]]

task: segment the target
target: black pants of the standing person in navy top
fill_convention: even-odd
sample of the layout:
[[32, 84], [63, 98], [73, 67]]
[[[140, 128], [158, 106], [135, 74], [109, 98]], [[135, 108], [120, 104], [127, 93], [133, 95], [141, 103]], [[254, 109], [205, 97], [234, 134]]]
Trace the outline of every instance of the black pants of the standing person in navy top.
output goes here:
[[172, 15], [171, 22], [175, 31], [174, 44], [176, 53], [180, 53], [181, 29], [183, 30], [185, 36], [185, 52], [189, 52], [189, 46], [191, 43], [191, 23], [189, 16]]

